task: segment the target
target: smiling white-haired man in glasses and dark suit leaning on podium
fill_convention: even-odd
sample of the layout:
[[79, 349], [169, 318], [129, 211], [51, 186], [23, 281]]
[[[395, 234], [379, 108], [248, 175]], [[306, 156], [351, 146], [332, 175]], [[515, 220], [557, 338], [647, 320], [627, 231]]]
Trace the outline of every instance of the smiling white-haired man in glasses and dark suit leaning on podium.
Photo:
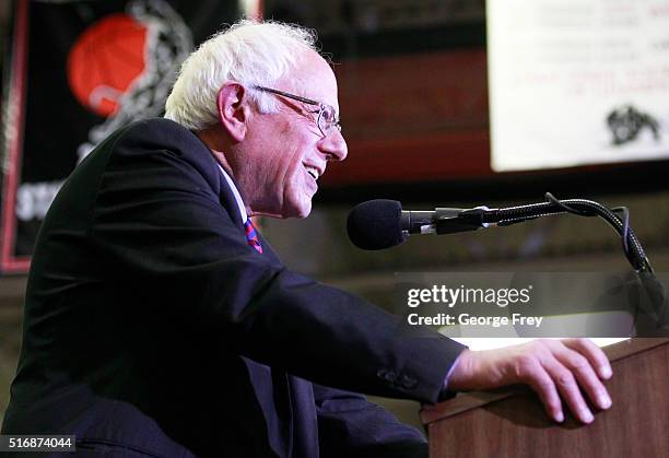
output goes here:
[[164, 119], [73, 172], [35, 248], [4, 434], [75, 435], [79, 457], [412, 457], [423, 435], [359, 392], [436, 402], [526, 383], [559, 422], [562, 400], [586, 423], [584, 397], [611, 404], [587, 340], [472, 352], [402, 337], [282, 266], [250, 216], [307, 216], [347, 156], [314, 43], [233, 25], [184, 63]]

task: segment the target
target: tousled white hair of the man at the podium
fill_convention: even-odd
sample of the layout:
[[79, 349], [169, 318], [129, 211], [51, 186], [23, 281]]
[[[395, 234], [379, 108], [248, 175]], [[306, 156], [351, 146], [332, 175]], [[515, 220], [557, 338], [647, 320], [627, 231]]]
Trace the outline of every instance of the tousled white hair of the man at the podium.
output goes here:
[[275, 113], [275, 97], [253, 87], [271, 87], [309, 49], [318, 52], [312, 30], [273, 21], [236, 22], [184, 61], [165, 103], [165, 118], [191, 130], [215, 125], [218, 94], [228, 81], [244, 85], [260, 113]]

